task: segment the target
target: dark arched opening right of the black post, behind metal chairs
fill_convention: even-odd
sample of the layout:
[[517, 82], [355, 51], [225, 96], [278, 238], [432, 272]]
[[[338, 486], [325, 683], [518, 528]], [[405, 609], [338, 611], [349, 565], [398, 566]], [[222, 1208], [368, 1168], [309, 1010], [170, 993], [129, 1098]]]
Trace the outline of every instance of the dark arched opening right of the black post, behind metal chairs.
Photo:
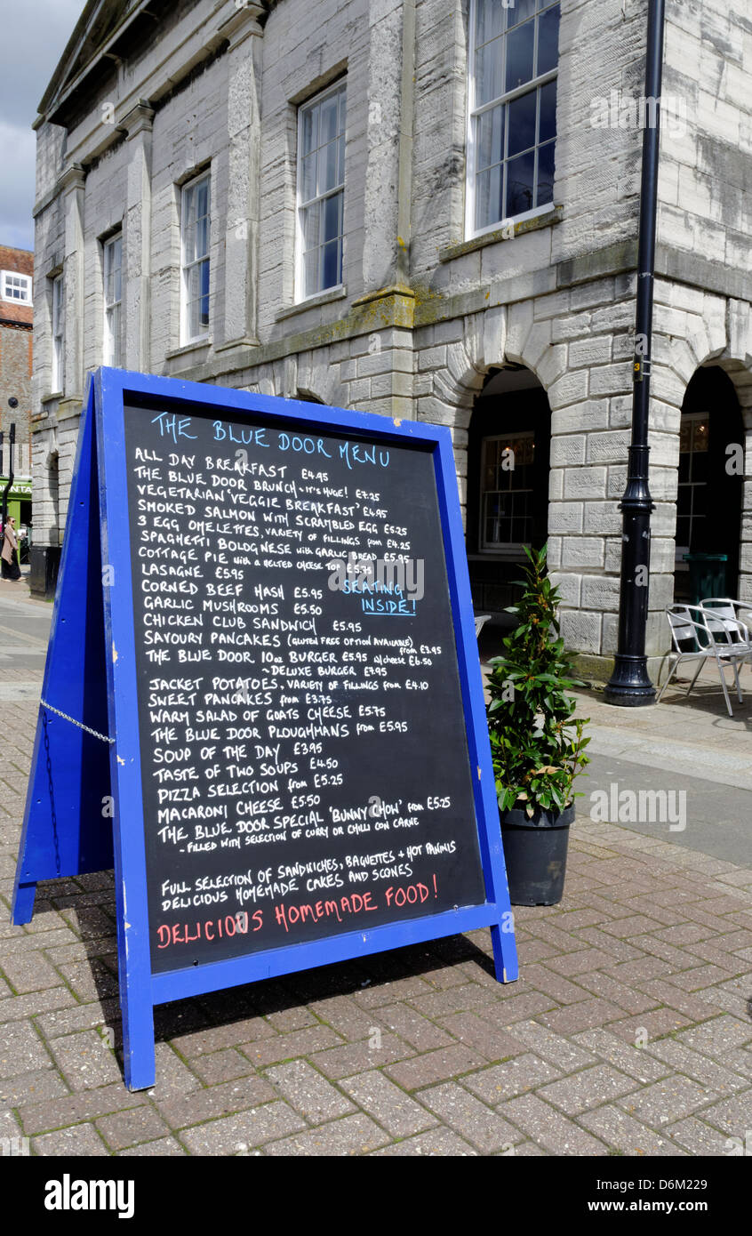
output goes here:
[[725, 554], [726, 596], [736, 597], [743, 486], [742, 414], [717, 365], [687, 387], [679, 428], [674, 598], [693, 601], [685, 554]]

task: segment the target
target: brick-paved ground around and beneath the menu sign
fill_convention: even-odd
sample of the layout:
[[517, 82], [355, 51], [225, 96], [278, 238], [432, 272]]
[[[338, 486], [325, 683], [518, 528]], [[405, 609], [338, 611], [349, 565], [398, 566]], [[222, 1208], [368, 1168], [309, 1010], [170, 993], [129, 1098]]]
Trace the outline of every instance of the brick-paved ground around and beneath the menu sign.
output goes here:
[[[9, 923], [51, 607], [7, 587], [0, 1154], [750, 1153], [748, 670], [731, 719], [709, 675], [654, 708], [582, 693], [564, 900], [516, 908], [519, 981], [495, 983], [478, 931], [183, 1000], [156, 1011], [154, 1088], [128, 1094], [111, 873], [47, 883]], [[626, 818], [650, 789], [666, 818]]]

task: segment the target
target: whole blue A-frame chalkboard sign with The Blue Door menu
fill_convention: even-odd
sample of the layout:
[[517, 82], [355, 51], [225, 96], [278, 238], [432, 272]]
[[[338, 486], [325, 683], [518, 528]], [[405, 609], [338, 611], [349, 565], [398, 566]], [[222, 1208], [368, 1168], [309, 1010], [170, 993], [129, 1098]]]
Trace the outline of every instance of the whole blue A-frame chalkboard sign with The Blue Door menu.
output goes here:
[[14, 892], [115, 866], [153, 1009], [490, 927], [517, 976], [447, 429], [99, 370]]

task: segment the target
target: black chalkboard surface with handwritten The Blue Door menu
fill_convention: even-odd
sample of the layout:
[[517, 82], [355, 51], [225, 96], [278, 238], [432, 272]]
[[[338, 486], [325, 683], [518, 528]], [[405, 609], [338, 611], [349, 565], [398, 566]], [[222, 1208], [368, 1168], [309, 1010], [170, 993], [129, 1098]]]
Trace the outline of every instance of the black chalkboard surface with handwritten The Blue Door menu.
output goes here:
[[126, 407], [154, 973], [485, 900], [419, 446]]

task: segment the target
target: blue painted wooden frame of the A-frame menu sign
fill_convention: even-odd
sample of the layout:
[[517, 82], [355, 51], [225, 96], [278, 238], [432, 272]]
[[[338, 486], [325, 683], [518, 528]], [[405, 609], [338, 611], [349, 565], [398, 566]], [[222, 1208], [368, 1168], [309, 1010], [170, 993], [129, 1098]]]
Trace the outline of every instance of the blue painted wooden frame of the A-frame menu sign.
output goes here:
[[[433, 457], [475, 822], [483, 905], [342, 932], [168, 973], [151, 967], [147, 858], [132, 603], [125, 405], [128, 398], [190, 403], [242, 420], [290, 420], [349, 431]], [[85, 728], [81, 728], [85, 727]], [[112, 818], [102, 818], [104, 795]], [[98, 370], [84, 408], [35, 742], [12, 921], [28, 922], [36, 883], [115, 865], [117, 955], [126, 1084], [154, 1084], [156, 1005], [222, 988], [490, 927], [499, 981], [517, 978], [499, 810], [494, 789], [464, 534], [448, 429], [122, 370]]]

